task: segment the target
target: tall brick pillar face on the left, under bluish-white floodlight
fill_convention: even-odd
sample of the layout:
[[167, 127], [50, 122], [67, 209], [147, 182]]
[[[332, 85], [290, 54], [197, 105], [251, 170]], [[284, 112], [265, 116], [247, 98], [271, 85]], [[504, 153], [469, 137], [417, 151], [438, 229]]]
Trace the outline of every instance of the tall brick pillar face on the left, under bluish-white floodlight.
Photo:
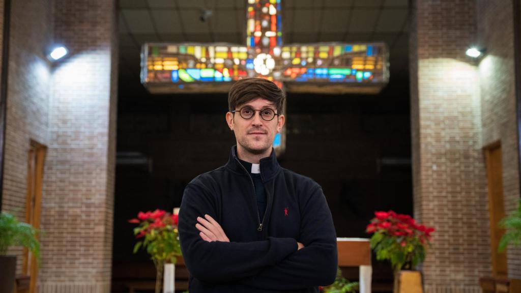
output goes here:
[[40, 292], [109, 292], [114, 208], [115, 1], [55, 0]]

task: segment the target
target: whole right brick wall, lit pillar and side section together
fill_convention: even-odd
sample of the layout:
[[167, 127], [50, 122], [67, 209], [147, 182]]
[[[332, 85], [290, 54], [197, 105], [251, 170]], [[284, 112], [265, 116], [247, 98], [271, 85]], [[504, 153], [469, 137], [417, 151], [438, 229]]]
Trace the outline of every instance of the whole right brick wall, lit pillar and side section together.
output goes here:
[[[512, 2], [414, 1], [411, 124], [415, 216], [437, 228], [427, 292], [480, 292], [491, 275], [482, 148], [501, 141], [505, 210], [519, 198]], [[465, 56], [471, 45], [485, 57]], [[508, 270], [519, 277], [519, 250]]]

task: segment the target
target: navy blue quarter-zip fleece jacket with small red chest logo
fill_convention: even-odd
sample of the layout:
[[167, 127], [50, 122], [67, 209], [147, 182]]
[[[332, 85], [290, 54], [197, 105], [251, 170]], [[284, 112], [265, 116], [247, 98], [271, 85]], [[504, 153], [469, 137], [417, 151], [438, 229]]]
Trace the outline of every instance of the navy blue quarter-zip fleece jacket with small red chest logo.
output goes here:
[[[259, 220], [255, 187], [235, 146], [225, 166], [194, 178], [184, 190], [179, 239], [190, 292], [318, 292], [333, 283], [337, 242], [321, 187], [283, 169], [275, 151], [261, 160], [267, 196]], [[230, 242], [207, 242], [195, 227], [212, 216]], [[297, 241], [305, 246], [297, 250]]]

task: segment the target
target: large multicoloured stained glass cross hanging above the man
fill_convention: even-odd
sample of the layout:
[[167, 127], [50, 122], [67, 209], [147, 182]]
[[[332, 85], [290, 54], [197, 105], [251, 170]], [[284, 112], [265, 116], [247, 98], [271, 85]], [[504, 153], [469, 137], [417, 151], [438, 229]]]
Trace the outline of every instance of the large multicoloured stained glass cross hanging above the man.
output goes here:
[[228, 92], [234, 81], [263, 77], [290, 92], [327, 94], [378, 93], [388, 83], [386, 44], [283, 45], [281, 11], [281, 0], [247, 0], [246, 46], [144, 44], [141, 82], [151, 93]]

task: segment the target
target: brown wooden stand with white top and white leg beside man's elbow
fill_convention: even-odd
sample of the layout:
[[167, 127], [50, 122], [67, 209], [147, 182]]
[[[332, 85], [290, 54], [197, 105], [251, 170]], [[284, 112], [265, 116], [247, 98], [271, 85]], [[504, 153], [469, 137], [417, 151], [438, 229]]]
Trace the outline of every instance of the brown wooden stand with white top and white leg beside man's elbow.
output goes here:
[[358, 266], [359, 292], [371, 293], [371, 247], [366, 238], [337, 238], [338, 266]]

